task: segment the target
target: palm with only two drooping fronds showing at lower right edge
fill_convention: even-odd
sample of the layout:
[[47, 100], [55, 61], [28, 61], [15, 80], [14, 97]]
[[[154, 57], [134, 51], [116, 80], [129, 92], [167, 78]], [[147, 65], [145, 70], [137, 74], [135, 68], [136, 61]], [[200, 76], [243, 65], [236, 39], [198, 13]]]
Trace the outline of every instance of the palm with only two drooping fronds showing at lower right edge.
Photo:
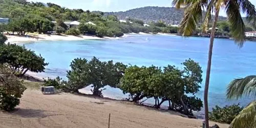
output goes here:
[[[256, 76], [247, 76], [245, 78], [234, 79], [227, 88], [228, 99], [238, 99], [243, 95], [256, 96]], [[238, 127], [256, 127], [256, 101], [249, 103], [240, 113], [234, 118], [230, 124], [230, 128]]]

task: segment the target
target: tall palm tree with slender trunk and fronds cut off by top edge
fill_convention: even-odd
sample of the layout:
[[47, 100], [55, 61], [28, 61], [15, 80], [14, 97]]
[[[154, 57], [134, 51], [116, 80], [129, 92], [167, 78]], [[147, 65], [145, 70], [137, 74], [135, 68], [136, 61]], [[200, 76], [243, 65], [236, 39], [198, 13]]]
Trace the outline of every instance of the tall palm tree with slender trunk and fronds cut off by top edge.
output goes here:
[[[203, 19], [203, 32], [208, 28], [211, 15], [215, 14], [210, 34], [210, 44], [208, 52], [208, 63], [204, 87], [204, 109], [205, 109], [205, 126], [209, 127], [208, 117], [208, 89], [211, 69], [212, 47], [214, 45], [215, 28], [217, 26], [218, 16], [221, 9], [227, 14], [227, 20], [230, 24], [230, 32], [236, 43], [242, 47], [245, 41], [245, 25], [240, 12], [247, 15], [248, 20], [252, 20], [256, 11], [254, 5], [249, 0], [173, 0], [176, 8], [184, 8], [184, 16], [180, 23], [180, 33], [183, 36], [190, 36], [196, 30], [197, 25]], [[204, 15], [205, 12], [205, 15]], [[204, 15], [204, 18], [203, 18]]]

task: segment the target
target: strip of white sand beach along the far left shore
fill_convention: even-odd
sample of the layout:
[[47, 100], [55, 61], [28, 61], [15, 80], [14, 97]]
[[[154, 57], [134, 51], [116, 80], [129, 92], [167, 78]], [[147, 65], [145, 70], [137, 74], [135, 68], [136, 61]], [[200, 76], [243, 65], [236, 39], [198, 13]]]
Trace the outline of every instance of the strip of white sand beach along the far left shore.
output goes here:
[[[88, 36], [88, 35], [80, 35], [80, 36], [72, 36], [72, 35], [46, 35], [46, 34], [34, 34], [32, 36], [38, 37], [38, 40], [84, 40], [84, 39], [111, 39], [111, 38], [100, 38], [96, 36]], [[20, 41], [37, 41], [36, 38], [29, 37], [19, 37], [13, 35], [7, 35], [8, 40], [6, 43], [16, 43]]]

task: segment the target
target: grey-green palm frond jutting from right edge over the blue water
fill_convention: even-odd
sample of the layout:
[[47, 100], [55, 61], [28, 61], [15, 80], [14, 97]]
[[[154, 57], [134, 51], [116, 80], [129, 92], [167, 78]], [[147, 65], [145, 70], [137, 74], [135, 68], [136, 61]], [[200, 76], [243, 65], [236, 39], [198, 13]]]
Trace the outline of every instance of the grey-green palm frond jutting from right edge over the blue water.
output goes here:
[[227, 98], [240, 98], [242, 95], [256, 95], [256, 75], [234, 79], [227, 87]]

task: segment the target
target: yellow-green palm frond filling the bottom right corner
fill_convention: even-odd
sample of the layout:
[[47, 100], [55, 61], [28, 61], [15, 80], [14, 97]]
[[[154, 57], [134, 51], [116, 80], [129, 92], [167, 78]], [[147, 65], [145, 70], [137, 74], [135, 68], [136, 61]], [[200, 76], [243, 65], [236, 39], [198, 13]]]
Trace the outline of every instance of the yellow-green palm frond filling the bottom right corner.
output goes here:
[[256, 127], [256, 101], [246, 106], [236, 118], [233, 119], [229, 128]]

